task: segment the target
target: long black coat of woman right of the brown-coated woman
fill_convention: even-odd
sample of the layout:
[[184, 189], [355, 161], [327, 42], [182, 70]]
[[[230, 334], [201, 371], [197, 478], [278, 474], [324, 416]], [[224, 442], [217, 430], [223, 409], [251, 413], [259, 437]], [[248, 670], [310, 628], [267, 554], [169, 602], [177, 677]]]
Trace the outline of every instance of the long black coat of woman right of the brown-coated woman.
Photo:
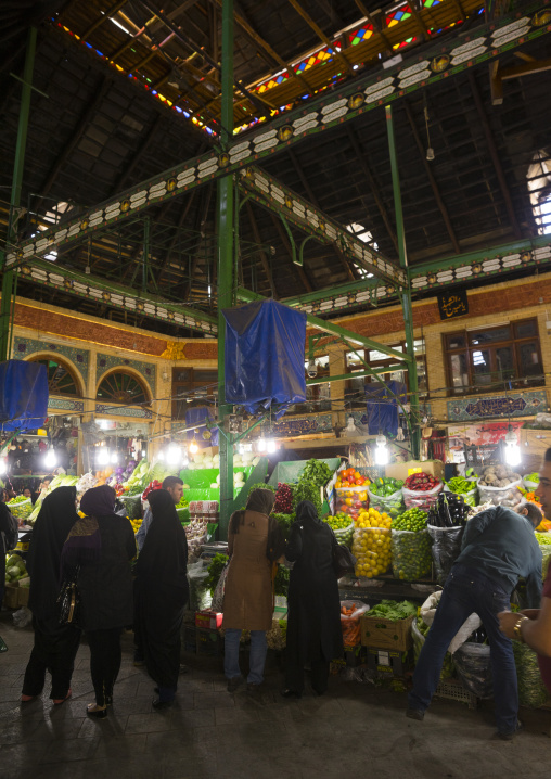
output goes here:
[[343, 654], [333, 544], [331, 528], [320, 520], [291, 526], [285, 557], [295, 564], [289, 582], [286, 651], [300, 666], [318, 647], [326, 661]]

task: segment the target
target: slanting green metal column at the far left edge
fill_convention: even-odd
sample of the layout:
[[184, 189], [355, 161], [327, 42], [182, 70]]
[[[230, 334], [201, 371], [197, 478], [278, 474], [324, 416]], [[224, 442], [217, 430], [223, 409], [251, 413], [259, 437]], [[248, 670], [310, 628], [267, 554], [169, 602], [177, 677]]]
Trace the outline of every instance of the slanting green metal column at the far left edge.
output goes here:
[[[30, 92], [33, 90], [33, 68], [35, 66], [35, 50], [37, 31], [31, 27], [28, 31], [27, 51], [25, 55], [25, 69], [23, 73], [23, 89], [21, 93], [20, 125], [17, 129], [17, 144], [15, 146], [15, 159], [13, 163], [12, 193], [10, 197], [10, 213], [8, 215], [8, 229], [5, 232], [7, 246], [15, 241], [17, 220], [15, 209], [21, 203], [21, 187], [23, 183], [23, 169], [25, 164], [25, 146], [27, 144], [28, 115], [30, 112]], [[0, 248], [0, 270], [5, 264], [5, 251]], [[2, 276], [2, 299], [0, 302], [0, 362], [10, 357], [11, 343], [11, 305], [14, 285], [14, 273], [12, 270], [3, 272]], [[15, 306], [15, 297], [13, 299]]]

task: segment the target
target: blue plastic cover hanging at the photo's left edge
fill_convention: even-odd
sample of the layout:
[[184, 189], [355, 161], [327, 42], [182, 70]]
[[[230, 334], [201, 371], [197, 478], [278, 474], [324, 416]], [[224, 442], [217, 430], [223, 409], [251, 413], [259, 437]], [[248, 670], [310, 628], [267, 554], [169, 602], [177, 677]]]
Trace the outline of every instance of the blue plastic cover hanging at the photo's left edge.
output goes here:
[[0, 362], [0, 427], [36, 430], [48, 417], [46, 366], [25, 360]]

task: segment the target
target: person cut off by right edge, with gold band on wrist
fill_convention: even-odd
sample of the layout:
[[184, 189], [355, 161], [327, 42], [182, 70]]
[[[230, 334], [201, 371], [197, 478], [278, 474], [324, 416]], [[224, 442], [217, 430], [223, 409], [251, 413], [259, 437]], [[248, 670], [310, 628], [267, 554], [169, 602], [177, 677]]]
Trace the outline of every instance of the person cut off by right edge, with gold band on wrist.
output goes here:
[[[541, 501], [546, 519], [551, 520], [551, 448], [546, 451], [536, 495]], [[527, 643], [538, 653], [541, 678], [551, 693], [551, 565], [539, 609], [526, 609], [518, 614], [503, 611], [498, 616], [500, 629], [505, 636]]]

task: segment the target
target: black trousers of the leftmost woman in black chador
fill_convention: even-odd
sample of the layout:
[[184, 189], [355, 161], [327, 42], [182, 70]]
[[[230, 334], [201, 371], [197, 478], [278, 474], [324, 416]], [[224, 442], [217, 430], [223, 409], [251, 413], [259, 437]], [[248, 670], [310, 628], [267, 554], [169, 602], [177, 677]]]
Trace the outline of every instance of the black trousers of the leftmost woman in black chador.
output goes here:
[[62, 700], [71, 688], [80, 630], [60, 625], [57, 616], [40, 620], [33, 616], [35, 644], [23, 679], [24, 695], [39, 695], [46, 684], [46, 672], [52, 675], [50, 698]]

